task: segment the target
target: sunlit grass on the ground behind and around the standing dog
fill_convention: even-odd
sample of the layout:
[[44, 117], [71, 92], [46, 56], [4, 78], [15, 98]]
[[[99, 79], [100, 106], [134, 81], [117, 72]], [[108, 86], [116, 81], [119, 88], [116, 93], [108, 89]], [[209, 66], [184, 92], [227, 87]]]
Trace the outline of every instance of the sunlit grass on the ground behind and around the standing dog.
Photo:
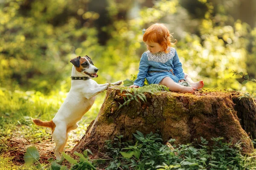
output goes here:
[[[28, 169], [24, 166], [20, 167], [13, 164], [12, 156], [6, 156], [6, 153], [15, 151], [19, 147], [10, 147], [12, 139], [22, 139], [22, 142], [27, 142], [28, 144], [52, 141], [50, 129], [34, 125], [30, 117], [44, 121], [51, 120], [67, 96], [67, 90], [65, 90], [67, 88], [63, 85], [60, 89], [60, 91], [52, 91], [47, 95], [39, 91], [9, 91], [4, 88], [0, 89], [1, 168], [4, 167], [5, 170]], [[76, 142], [84, 135], [88, 124], [99, 113], [104, 97], [105, 94], [97, 96], [93, 107], [79, 122], [79, 127], [70, 133], [66, 148], [73, 148]], [[0, 170], [2, 170], [1, 168]]]

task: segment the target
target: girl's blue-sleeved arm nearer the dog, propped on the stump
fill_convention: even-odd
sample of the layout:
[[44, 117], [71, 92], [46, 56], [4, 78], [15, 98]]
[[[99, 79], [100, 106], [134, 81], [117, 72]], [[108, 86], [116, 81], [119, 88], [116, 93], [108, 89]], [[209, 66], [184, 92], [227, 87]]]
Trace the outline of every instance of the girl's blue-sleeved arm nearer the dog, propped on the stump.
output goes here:
[[144, 85], [145, 77], [148, 74], [148, 67], [148, 56], [146, 53], [143, 53], [142, 57], [140, 58], [139, 73], [137, 75], [137, 79], [134, 81], [134, 85], [139, 87], [142, 87]]

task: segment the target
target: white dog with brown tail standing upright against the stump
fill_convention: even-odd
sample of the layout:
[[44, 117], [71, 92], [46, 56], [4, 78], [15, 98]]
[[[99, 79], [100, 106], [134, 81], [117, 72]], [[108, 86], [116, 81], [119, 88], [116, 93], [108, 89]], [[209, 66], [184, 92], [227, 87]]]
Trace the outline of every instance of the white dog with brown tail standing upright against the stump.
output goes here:
[[[77, 122], [92, 107], [96, 95], [107, 90], [110, 85], [109, 83], [99, 85], [91, 79], [98, 77], [96, 73], [99, 69], [93, 65], [90, 57], [79, 56], [71, 59], [70, 62], [73, 64], [71, 88], [61, 108], [49, 122], [32, 119], [36, 125], [52, 128], [54, 152], [58, 160], [61, 159], [60, 153], [64, 151], [70, 130], [78, 127]], [[122, 81], [118, 81], [112, 84], [120, 85], [121, 83]]]

